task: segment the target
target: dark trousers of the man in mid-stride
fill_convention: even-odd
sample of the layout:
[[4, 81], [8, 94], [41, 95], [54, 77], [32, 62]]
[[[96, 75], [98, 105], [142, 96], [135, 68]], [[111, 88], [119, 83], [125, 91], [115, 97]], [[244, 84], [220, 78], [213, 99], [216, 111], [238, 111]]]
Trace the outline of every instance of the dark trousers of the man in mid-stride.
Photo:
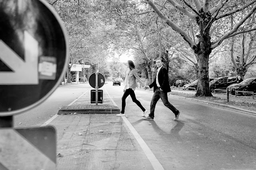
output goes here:
[[157, 87], [150, 104], [150, 117], [154, 118], [156, 103], [160, 98], [164, 103], [164, 106], [168, 107], [174, 114], [178, 114], [179, 111], [168, 101], [167, 92], [160, 91], [160, 87]]

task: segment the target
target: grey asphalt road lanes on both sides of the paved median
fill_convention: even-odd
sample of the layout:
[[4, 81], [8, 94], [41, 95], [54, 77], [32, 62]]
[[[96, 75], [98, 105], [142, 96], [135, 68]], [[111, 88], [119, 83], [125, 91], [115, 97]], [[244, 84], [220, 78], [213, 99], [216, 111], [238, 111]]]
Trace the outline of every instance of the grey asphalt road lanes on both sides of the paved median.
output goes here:
[[[124, 86], [105, 84], [102, 89], [121, 109]], [[63, 86], [38, 107], [14, 116], [14, 127], [42, 125], [62, 106], [67, 106], [86, 90], [89, 84]], [[148, 111], [152, 91], [135, 91]], [[255, 169], [256, 116], [220, 107], [169, 98], [180, 110], [179, 121], [159, 100], [154, 121], [141, 117], [142, 111], [127, 98], [125, 114], [165, 169]], [[20, 124], [21, 123], [21, 124]]]

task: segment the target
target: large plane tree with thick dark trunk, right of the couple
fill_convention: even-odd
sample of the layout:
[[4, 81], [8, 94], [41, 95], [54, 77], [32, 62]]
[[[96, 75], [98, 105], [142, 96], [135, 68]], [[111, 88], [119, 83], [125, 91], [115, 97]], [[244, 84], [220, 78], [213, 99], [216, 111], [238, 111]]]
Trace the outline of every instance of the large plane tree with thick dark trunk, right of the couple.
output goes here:
[[[255, 23], [252, 27], [246, 27], [245, 21], [256, 10], [256, 0], [145, 0], [144, 8], [134, 4], [134, 10], [143, 12], [130, 12], [130, 14], [141, 15], [149, 12], [156, 13], [174, 31], [179, 33], [188, 43], [197, 56], [198, 60], [198, 89], [196, 96], [212, 96], [209, 89], [208, 61], [213, 49], [218, 47], [225, 39], [234, 35], [256, 30]], [[150, 9], [150, 8], [151, 9]], [[180, 12], [180, 19], [177, 20], [174, 14]], [[230, 29], [230, 16], [236, 16], [234, 26]], [[188, 17], [190, 23], [182, 23], [182, 18]], [[189, 25], [197, 39], [189, 35]]]

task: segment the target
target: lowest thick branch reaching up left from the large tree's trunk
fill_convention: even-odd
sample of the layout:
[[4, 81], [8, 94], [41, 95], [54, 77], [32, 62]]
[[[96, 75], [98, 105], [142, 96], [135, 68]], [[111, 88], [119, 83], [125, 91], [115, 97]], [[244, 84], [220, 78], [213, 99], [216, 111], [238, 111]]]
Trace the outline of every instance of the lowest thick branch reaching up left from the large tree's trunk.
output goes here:
[[156, 12], [156, 14], [163, 20], [165, 21], [172, 29], [174, 29], [174, 31], [180, 33], [180, 35], [183, 37], [183, 39], [185, 41], [188, 42], [188, 44], [190, 45], [190, 47], [192, 49], [196, 48], [196, 44], [194, 43], [194, 41], [192, 41], [192, 39], [189, 37], [189, 35], [180, 27], [178, 27], [178, 25], [176, 25], [175, 23], [173, 23], [167, 16], [165, 16], [157, 7], [156, 5], [152, 2], [152, 0], [148, 0], [148, 4], [153, 8], [154, 12]]

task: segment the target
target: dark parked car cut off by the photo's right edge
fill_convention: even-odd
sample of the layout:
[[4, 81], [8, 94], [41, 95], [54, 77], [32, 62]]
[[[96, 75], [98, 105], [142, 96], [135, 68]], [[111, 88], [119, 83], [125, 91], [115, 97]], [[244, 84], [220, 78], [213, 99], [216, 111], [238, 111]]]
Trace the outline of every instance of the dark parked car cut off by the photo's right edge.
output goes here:
[[[256, 92], [256, 78], [247, 78], [246, 80], [228, 86], [229, 92], [235, 94], [235, 91], [246, 91], [246, 92]], [[243, 96], [246, 96], [249, 93], [240, 92]]]

